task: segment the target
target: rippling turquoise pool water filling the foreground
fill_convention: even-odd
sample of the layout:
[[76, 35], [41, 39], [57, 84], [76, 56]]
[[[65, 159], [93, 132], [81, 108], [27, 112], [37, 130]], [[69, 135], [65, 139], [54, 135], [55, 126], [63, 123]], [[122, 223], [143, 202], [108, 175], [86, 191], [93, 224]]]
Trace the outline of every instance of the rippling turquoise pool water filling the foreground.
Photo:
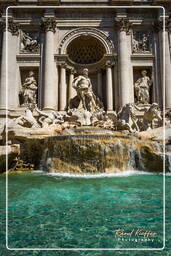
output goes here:
[[[166, 180], [167, 185], [171, 177], [166, 177]], [[54, 177], [41, 173], [10, 175], [8, 246], [161, 248], [162, 184], [163, 177], [157, 174], [94, 179]], [[0, 186], [4, 195], [3, 176], [0, 177]], [[167, 216], [171, 209], [170, 200], [169, 191]], [[4, 197], [1, 197], [1, 206], [4, 206]], [[1, 223], [5, 225], [4, 207], [1, 210]], [[116, 230], [122, 230], [124, 234]], [[153, 235], [148, 236], [147, 240], [142, 232], [151, 232]], [[166, 232], [166, 244], [169, 248], [169, 218], [166, 219]], [[5, 230], [2, 229], [0, 234], [1, 247], [4, 248]], [[169, 250], [19, 252], [3, 249], [1, 253], [0, 255], [171, 255]]]

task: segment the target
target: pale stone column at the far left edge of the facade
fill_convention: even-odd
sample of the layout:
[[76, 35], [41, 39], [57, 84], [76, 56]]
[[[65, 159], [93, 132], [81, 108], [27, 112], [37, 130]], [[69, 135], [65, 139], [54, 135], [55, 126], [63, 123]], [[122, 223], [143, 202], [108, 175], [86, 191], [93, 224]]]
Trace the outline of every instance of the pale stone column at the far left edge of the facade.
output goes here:
[[1, 23], [1, 28], [3, 30], [3, 42], [0, 76], [0, 109], [6, 109], [6, 99], [8, 109], [15, 109], [18, 107], [19, 104], [19, 89], [16, 83], [16, 51], [18, 25], [14, 23], [12, 19], [10, 19], [8, 21], [8, 27], [5, 27], [5, 23]]

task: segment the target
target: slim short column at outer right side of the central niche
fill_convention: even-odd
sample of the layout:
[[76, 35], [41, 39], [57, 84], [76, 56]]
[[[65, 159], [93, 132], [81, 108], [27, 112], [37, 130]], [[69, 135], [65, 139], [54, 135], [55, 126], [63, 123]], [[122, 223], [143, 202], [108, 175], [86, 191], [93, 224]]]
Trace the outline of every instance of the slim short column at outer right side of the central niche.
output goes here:
[[113, 110], [113, 84], [112, 84], [112, 65], [110, 61], [106, 63], [106, 100], [107, 111]]

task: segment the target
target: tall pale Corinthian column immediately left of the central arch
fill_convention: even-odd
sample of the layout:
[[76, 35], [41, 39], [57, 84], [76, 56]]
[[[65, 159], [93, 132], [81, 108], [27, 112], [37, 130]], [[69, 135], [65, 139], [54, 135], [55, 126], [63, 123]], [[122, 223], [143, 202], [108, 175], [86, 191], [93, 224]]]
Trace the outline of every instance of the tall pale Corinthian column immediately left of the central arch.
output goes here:
[[54, 18], [44, 18], [42, 26], [45, 31], [43, 106], [44, 109], [56, 109], [57, 86], [54, 78], [54, 33], [56, 21]]

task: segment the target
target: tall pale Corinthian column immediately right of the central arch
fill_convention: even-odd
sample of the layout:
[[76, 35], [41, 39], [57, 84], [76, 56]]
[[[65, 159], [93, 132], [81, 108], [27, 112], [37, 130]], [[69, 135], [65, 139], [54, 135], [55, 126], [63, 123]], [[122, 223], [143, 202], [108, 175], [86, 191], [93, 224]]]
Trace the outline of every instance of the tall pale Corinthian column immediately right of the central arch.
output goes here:
[[116, 21], [119, 28], [120, 107], [123, 107], [127, 103], [134, 102], [133, 84], [130, 80], [130, 52], [127, 44], [129, 22], [126, 18], [117, 19]]

